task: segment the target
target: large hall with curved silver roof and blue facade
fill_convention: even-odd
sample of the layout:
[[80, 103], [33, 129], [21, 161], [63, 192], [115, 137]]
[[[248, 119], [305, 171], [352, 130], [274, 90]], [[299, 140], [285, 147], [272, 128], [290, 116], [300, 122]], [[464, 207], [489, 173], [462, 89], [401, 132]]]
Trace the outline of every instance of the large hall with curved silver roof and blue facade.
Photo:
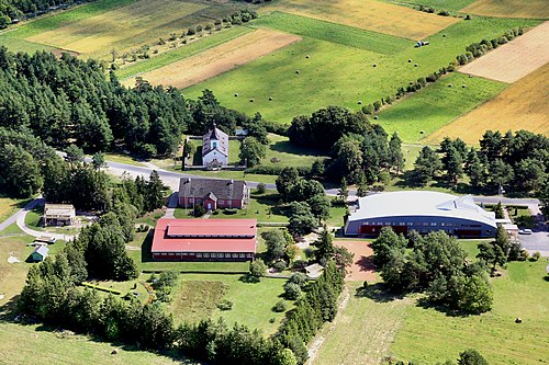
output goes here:
[[345, 235], [377, 237], [383, 227], [404, 235], [444, 230], [458, 238], [490, 238], [497, 229], [495, 213], [478, 206], [471, 195], [410, 191], [359, 198], [345, 224]]

